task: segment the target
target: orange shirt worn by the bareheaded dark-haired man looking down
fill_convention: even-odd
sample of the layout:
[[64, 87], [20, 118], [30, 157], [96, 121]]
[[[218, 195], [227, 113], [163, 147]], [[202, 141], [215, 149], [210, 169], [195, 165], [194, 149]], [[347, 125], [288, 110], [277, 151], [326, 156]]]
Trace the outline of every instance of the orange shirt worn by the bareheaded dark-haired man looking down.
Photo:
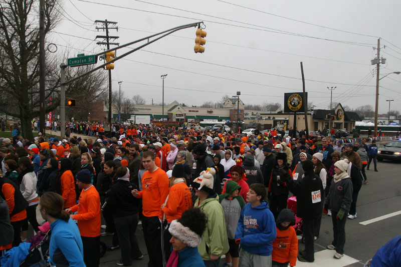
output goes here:
[[142, 191], [139, 191], [139, 198], [142, 198], [142, 214], [146, 217], [159, 216], [160, 219], [163, 219], [161, 205], [164, 204], [167, 195], [168, 177], [166, 172], [160, 168], [152, 172], [145, 171], [142, 175]]

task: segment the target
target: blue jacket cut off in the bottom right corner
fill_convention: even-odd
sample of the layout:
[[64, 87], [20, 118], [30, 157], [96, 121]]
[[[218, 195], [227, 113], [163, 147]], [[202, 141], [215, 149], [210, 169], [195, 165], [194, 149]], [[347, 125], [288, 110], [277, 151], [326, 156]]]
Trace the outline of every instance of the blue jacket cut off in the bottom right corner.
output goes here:
[[371, 267], [401, 266], [401, 235], [380, 247], [372, 258]]

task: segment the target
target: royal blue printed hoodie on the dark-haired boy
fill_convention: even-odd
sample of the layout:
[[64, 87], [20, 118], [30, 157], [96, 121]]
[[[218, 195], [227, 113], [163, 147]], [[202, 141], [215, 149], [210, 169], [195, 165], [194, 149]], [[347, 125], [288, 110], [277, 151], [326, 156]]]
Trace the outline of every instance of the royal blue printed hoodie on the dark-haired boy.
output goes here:
[[256, 207], [252, 207], [251, 203], [244, 206], [235, 233], [235, 239], [238, 238], [241, 238], [241, 248], [250, 253], [262, 256], [272, 254], [276, 222], [266, 201]]

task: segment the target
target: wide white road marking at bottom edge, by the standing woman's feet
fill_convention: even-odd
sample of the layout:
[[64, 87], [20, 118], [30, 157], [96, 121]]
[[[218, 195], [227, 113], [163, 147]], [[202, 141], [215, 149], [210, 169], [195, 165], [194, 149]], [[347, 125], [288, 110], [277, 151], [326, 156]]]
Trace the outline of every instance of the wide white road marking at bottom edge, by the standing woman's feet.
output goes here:
[[297, 260], [298, 266], [330, 266], [330, 267], [343, 267], [349, 264], [358, 262], [356, 258], [352, 258], [344, 254], [340, 259], [334, 258], [335, 250], [325, 249], [315, 252], [315, 261], [313, 262], [302, 262]]

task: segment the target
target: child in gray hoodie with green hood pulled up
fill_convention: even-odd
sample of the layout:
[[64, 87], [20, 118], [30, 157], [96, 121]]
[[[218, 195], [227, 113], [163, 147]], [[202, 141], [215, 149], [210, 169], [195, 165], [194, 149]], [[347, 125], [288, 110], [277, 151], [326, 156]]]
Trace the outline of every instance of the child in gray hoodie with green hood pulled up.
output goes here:
[[226, 192], [219, 195], [219, 201], [224, 210], [227, 236], [230, 245], [230, 250], [226, 254], [226, 263], [224, 266], [238, 267], [240, 260], [239, 244], [235, 242], [234, 238], [241, 210], [245, 206], [244, 198], [238, 194], [240, 190], [241, 186], [238, 183], [228, 180]]

